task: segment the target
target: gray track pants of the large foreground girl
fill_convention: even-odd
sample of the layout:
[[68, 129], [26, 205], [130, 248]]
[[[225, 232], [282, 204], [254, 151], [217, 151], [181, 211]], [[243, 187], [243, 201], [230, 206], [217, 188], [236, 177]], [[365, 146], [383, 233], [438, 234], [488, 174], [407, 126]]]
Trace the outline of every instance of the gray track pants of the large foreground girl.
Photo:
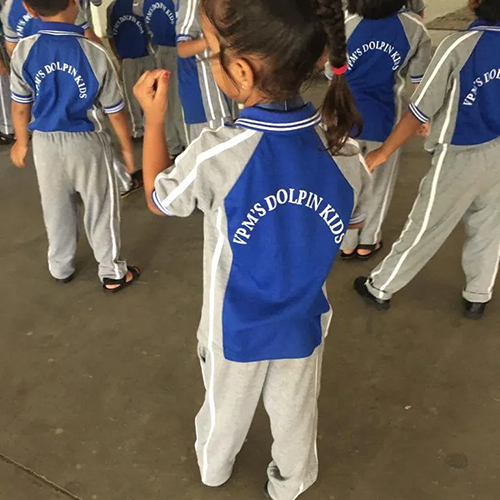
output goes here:
[[268, 468], [274, 500], [294, 500], [318, 476], [316, 437], [321, 345], [309, 358], [234, 363], [200, 344], [206, 397], [196, 417], [196, 453], [203, 483], [230, 477], [261, 395], [274, 438]]

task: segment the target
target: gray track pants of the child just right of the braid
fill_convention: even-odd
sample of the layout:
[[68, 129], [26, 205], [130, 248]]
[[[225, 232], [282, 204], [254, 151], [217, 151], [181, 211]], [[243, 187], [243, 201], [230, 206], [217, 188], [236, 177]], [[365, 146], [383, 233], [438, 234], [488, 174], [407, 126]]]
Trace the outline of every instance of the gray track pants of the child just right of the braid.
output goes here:
[[[382, 143], [358, 141], [361, 154], [366, 156], [370, 151], [379, 148]], [[394, 195], [394, 186], [399, 170], [399, 151], [375, 170], [373, 178], [373, 195], [366, 207], [367, 218], [361, 229], [351, 229], [342, 242], [342, 250], [354, 250], [358, 245], [376, 245], [382, 241], [382, 224]]]

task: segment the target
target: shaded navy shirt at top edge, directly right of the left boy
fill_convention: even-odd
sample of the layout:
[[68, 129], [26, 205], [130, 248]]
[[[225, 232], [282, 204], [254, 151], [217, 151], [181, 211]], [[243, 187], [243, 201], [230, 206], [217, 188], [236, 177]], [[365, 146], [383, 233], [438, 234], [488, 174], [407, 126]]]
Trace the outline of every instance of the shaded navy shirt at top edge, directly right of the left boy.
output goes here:
[[134, 0], [116, 0], [109, 10], [109, 36], [122, 59], [149, 55], [144, 17], [134, 11]]

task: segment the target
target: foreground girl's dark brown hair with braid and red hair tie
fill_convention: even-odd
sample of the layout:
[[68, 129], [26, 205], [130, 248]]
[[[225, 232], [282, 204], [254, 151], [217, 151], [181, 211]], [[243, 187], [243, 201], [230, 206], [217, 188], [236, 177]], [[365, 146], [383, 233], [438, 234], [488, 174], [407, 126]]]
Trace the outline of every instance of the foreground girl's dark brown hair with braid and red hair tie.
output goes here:
[[[254, 71], [255, 85], [273, 101], [291, 99], [310, 81], [327, 49], [334, 68], [347, 64], [342, 0], [202, 0], [202, 9], [220, 43], [227, 71], [231, 56], [252, 56], [265, 69]], [[361, 129], [344, 75], [336, 75], [322, 106], [328, 149], [339, 153], [352, 130]]]

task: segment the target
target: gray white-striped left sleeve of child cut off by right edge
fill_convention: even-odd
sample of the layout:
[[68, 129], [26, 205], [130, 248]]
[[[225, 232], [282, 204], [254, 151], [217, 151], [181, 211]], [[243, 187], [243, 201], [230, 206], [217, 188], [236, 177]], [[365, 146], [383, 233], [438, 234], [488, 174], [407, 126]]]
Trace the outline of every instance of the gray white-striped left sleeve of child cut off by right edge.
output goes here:
[[448, 37], [438, 48], [418, 89], [411, 98], [410, 111], [422, 123], [428, 122], [446, 103], [457, 67], [456, 47], [462, 40], [473, 35], [460, 34]]

